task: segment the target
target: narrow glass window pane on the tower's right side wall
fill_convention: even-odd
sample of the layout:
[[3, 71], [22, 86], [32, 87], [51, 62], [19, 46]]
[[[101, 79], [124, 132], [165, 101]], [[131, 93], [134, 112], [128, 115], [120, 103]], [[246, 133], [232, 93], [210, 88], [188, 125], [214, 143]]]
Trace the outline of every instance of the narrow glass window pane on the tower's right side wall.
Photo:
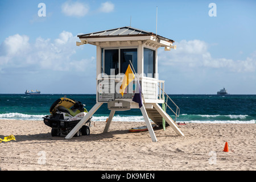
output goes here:
[[155, 51], [144, 48], [144, 75], [154, 78], [155, 74]]

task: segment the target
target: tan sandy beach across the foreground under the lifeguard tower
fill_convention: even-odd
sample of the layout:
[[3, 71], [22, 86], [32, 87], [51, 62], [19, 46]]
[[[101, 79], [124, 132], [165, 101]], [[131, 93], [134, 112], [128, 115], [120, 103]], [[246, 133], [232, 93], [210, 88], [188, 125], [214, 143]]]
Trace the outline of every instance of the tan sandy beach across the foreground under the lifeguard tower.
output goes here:
[[[51, 137], [43, 121], [0, 120], [0, 168], [13, 170], [146, 170], [146, 171], [254, 171], [256, 169], [255, 124], [187, 123], [180, 126], [185, 137], [167, 127], [156, 128], [158, 142], [149, 133], [129, 133], [143, 122], [93, 122], [89, 136]], [[224, 152], [228, 142], [229, 152]]]

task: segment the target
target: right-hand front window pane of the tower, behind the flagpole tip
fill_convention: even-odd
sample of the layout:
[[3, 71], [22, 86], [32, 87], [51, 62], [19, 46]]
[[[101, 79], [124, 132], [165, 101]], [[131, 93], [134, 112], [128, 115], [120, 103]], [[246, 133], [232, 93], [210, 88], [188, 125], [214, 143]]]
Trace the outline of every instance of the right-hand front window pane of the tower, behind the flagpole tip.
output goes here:
[[128, 65], [133, 64], [135, 72], [137, 73], [137, 48], [134, 49], [121, 49], [121, 73], [125, 73]]

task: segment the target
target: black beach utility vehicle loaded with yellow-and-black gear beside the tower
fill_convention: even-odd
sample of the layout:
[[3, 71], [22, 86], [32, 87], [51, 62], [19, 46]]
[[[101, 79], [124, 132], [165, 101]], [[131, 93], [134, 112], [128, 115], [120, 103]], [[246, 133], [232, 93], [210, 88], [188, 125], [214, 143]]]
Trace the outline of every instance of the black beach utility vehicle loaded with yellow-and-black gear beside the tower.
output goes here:
[[[84, 106], [80, 101], [66, 97], [61, 97], [53, 102], [49, 109], [50, 115], [43, 117], [44, 124], [52, 128], [52, 137], [60, 137], [61, 134], [67, 135], [88, 113]], [[85, 122], [85, 125], [77, 131], [74, 137], [90, 135], [91, 119], [92, 117]]]

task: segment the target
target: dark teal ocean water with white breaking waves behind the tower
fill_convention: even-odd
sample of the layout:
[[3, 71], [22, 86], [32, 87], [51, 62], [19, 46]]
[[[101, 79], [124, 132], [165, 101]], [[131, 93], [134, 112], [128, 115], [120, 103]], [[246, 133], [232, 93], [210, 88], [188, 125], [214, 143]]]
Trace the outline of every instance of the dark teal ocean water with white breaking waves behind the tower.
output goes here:
[[[96, 104], [96, 94], [66, 94], [85, 104], [89, 111]], [[185, 123], [256, 123], [256, 95], [169, 95], [180, 108], [177, 122]], [[0, 119], [42, 120], [49, 107], [63, 94], [0, 94]], [[172, 107], [174, 109], [174, 107]], [[174, 109], [175, 110], [175, 109]], [[92, 121], [106, 121], [110, 110], [104, 104]], [[171, 111], [167, 113], [175, 118]], [[113, 121], [144, 121], [141, 110], [116, 111]]]

